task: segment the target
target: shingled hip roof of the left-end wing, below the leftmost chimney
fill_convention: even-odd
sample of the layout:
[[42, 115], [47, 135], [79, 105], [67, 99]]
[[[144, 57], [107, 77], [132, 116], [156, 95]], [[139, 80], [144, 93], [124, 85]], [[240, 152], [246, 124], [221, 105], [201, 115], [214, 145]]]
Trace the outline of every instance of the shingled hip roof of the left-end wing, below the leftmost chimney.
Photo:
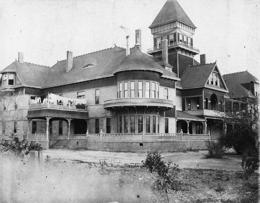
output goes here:
[[16, 72], [22, 85], [42, 87], [45, 83], [46, 72], [50, 67], [37, 64], [15, 61], [3, 69], [0, 73]]

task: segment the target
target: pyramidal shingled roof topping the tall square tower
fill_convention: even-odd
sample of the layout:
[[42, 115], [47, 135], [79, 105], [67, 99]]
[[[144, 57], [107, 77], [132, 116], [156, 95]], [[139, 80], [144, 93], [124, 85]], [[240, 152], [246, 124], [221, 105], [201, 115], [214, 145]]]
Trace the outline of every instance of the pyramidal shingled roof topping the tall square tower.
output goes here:
[[155, 26], [173, 21], [180, 21], [193, 28], [196, 28], [196, 26], [191, 22], [190, 18], [187, 16], [187, 14], [184, 12], [184, 10], [181, 8], [180, 4], [176, 0], [166, 1], [149, 28], [153, 28]]

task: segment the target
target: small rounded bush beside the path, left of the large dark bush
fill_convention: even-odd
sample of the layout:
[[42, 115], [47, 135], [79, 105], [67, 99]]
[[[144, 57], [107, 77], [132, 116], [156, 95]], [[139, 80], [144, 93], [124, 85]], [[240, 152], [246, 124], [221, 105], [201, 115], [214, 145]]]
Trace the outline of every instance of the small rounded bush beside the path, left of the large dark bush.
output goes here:
[[209, 151], [209, 153], [206, 154], [207, 158], [221, 158], [225, 154], [225, 149], [219, 141], [207, 140], [206, 146]]

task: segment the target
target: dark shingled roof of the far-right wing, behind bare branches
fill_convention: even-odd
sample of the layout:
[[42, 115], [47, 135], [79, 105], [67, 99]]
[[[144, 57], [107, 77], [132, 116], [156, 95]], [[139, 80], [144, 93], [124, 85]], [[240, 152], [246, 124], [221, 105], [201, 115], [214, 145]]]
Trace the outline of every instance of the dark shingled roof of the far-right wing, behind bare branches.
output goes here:
[[251, 81], [260, 83], [259, 80], [248, 71], [223, 75], [223, 78], [228, 86], [228, 95], [230, 98], [254, 97], [252, 92], [247, 90], [241, 84], [250, 83]]

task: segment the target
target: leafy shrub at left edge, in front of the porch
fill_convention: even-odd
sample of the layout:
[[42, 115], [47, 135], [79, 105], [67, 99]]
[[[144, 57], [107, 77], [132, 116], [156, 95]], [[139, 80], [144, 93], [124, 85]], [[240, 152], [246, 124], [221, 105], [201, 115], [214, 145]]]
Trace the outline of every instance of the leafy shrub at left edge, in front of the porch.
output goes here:
[[7, 154], [11, 154], [17, 158], [23, 158], [29, 154], [32, 150], [42, 150], [40, 144], [31, 141], [29, 144], [28, 141], [24, 138], [19, 138], [17, 135], [12, 134], [10, 140], [1, 139], [0, 142], [0, 151]]

